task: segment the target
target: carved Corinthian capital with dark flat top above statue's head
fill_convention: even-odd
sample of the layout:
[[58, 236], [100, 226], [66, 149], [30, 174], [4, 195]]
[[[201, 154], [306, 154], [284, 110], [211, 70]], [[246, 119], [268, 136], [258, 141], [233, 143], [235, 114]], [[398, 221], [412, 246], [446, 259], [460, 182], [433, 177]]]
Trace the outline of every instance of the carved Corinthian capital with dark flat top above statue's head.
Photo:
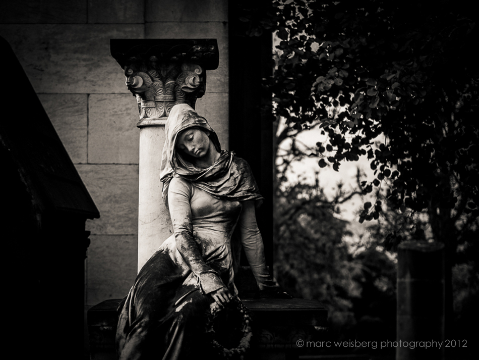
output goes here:
[[176, 104], [195, 108], [219, 61], [216, 39], [111, 39], [110, 52], [137, 99], [139, 127], [164, 123]]

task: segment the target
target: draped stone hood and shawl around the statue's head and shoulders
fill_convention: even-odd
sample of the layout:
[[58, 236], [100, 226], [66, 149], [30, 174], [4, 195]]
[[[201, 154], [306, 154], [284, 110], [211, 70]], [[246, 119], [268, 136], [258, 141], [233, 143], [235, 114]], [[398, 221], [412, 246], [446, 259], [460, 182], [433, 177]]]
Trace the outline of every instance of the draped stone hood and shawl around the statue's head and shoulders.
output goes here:
[[[203, 169], [190, 163], [175, 148], [178, 134], [191, 127], [209, 132], [209, 138], [220, 153], [218, 160]], [[262, 200], [258, 186], [246, 161], [233, 152], [221, 150], [218, 136], [205, 118], [187, 104], [175, 105], [165, 125], [165, 144], [161, 158], [160, 180], [163, 182], [163, 201], [168, 207], [168, 186], [173, 177], [181, 177], [210, 195], [225, 200]], [[257, 201], [261, 203], [261, 201]]]

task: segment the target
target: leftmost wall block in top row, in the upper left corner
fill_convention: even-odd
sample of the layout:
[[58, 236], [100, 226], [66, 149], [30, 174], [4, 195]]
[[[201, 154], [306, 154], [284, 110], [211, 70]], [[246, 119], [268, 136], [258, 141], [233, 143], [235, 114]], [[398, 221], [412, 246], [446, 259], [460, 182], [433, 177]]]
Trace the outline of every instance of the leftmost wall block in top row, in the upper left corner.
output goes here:
[[0, 2], [2, 24], [84, 24], [85, 0], [16, 0]]

